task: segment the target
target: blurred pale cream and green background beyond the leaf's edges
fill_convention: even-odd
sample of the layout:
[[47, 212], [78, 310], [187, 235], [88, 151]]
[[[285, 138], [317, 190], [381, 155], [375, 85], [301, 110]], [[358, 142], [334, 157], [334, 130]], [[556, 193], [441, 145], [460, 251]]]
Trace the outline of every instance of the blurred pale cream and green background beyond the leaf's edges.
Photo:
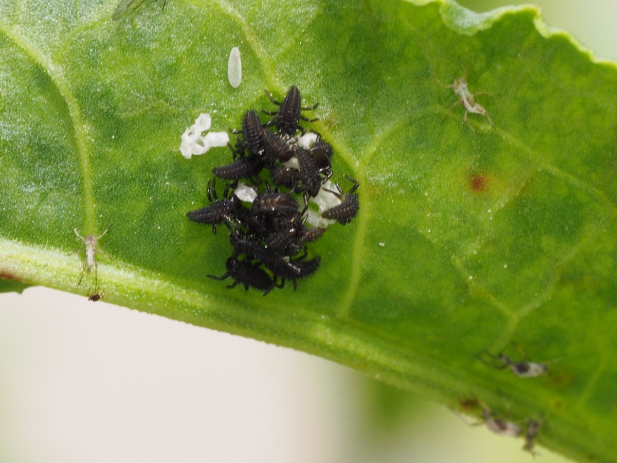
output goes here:
[[[537, 4], [617, 59], [614, 0]], [[0, 294], [0, 375], [0, 463], [532, 461], [521, 439], [323, 359], [46, 288]]]

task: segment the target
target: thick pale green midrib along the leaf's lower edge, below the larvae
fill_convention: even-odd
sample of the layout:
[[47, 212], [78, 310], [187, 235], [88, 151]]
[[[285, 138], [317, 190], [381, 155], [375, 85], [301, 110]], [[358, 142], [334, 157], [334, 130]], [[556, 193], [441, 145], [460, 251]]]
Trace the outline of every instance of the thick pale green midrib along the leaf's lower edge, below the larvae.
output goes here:
[[[61, 252], [33, 248], [15, 241], [0, 239], [0, 272], [12, 274], [15, 277], [27, 277], [29, 280], [51, 285], [56, 275], [67, 275], [62, 283], [55, 280], [54, 286], [65, 289], [74, 288], [75, 275], [80, 265], [75, 265], [77, 257], [68, 256]], [[13, 262], [13, 264], [9, 264]], [[263, 341], [284, 343], [288, 347], [318, 354], [336, 362], [346, 364], [361, 370], [372, 377], [386, 381], [393, 385], [421, 393], [441, 403], [454, 406], [453, 397], [465, 398], [468, 394], [468, 384], [474, 382], [474, 369], [468, 369], [445, 364], [443, 359], [415, 356], [413, 350], [401, 343], [397, 338], [389, 338], [387, 333], [367, 330], [365, 325], [358, 325], [349, 320], [320, 315], [296, 312], [286, 314], [284, 311], [260, 311], [252, 314], [241, 308], [229, 307], [218, 310], [218, 296], [208, 296], [197, 288], [189, 288], [181, 284], [163, 280], [156, 272], [147, 272], [135, 269], [127, 271], [126, 264], [115, 265], [101, 263], [106, 273], [106, 288], [109, 290], [109, 301], [126, 304], [146, 312], [172, 317], [176, 320], [207, 325], [209, 328], [221, 329], [238, 335], [250, 336]], [[24, 271], [23, 269], [27, 269]], [[73, 275], [75, 273], [75, 275]], [[126, 298], [122, 294], [139, 294], [133, 298]], [[238, 298], [239, 300], [239, 298]], [[164, 303], [162, 302], [164, 301]], [[596, 372], [600, 375], [601, 370]], [[592, 375], [594, 376], [594, 375]], [[477, 378], [476, 378], [477, 380]], [[487, 379], [477, 382], [474, 394], [491, 403], [503, 400], [499, 391], [495, 391], [494, 384]], [[593, 382], [590, 383], [592, 385]], [[513, 385], [515, 390], [524, 388], [523, 384]], [[447, 391], [448, 397], [444, 397]], [[525, 397], [515, 394], [516, 397]], [[549, 400], [549, 396], [545, 399]], [[524, 410], [533, 409], [536, 402], [511, 403], [513, 409], [524, 413]], [[515, 407], [520, 405], [522, 407]], [[598, 432], [595, 425], [602, 422], [587, 422], [581, 415], [582, 407], [571, 408], [568, 414], [551, 414], [550, 424], [563, 440], [557, 446], [565, 448], [569, 443], [569, 451], [585, 448], [582, 444], [584, 436], [580, 434], [581, 426], [593, 424], [589, 432]], [[523, 411], [521, 411], [523, 410]], [[584, 420], [584, 421], [581, 421]], [[555, 434], [553, 434], [555, 435]], [[596, 434], [596, 435], [602, 435]], [[574, 444], [574, 446], [572, 445]], [[595, 448], [598, 459], [608, 460], [612, 449], [603, 440]]]

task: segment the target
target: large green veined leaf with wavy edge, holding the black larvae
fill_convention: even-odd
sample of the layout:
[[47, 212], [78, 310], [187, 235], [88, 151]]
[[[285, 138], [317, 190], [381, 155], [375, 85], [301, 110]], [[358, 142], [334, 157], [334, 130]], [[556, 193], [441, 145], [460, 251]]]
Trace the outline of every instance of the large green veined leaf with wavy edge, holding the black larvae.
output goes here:
[[[476, 399], [574, 459], [617, 448], [617, 72], [532, 7], [277, 0], [0, 4], [0, 273], [76, 288], [99, 235], [106, 300], [291, 346], [455, 409]], [[242, 52], [243, 81], [226, 63]], [[462, 77], [486, 117], [449, 107]], [[297, 85], [320, 102], [335, 180], [360, 213], [312, 252], [296, 292], [266, 298], [222, 274], [225, 233], [189, 222], [226, 149], [186, 161], [200, 112], [239, 127]], [[224, 230], [224, 229], [223, 229]], [[519, 359], [519, 378], [477, 360]], [[479, 409], [473, 409], [479, 414]]]

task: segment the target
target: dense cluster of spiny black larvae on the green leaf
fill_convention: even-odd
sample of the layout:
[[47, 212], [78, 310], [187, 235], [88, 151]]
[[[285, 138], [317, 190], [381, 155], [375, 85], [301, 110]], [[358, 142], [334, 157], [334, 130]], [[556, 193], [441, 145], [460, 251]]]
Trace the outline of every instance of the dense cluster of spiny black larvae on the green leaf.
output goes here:
[[[307, 258], [307, 243], [320, 238], [329, 223], [345, 225], [358, 212], [358, 182], [347, 177], [354, 183], [347, 194], [338, 185], [333, 185], [337, 191], [331, 190], [332, 146], [299, 125], [300, 120], [317, 120], [300, 114], [317, 104], [302, 107], [296, 86], [282, 103], [266, 94], [278, 111], [262, 111], [271, 116], [265, 123], [257, 112], [246, 112], [242, 130], [233, 131], [241, 134], [235, 147], [229, 145], [233, 162], [212, 169], [210, 205], [187, 214], [193, 222], [212, 225], [214, 233], [220, 224], [230, 230], [233, 254], [225, 263], [227, 271], [208, 277], [231, 277], [230, 288], [239, 284], [264, 296], [283, 288], [287, 280], [296, 290], [296, 280], [315, 273], [320, 263], [320, 256]], [[226, 181], [222, 199], [216, 192], [217, 177]], [[319, 210], [309, 207], [309, 201]]]

